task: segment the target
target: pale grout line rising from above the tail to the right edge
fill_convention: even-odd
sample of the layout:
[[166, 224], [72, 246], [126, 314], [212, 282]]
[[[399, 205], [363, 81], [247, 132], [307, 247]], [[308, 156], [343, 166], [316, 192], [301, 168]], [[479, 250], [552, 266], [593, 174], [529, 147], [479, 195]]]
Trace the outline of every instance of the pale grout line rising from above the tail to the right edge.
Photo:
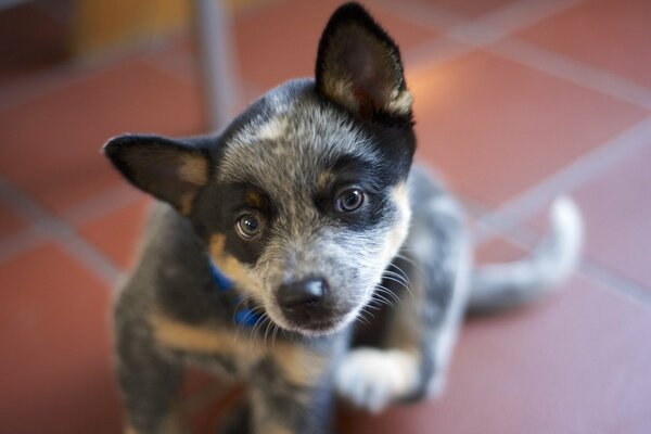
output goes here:
[[523, 221], [539, 212], [541, 206], [554, 199], [559, 192], [579, 188], [595, 176], [649, 145], [650, 138], [651, 116], [648, 116], [498, 206], [482, 220], [484, 222], [499, 219]]

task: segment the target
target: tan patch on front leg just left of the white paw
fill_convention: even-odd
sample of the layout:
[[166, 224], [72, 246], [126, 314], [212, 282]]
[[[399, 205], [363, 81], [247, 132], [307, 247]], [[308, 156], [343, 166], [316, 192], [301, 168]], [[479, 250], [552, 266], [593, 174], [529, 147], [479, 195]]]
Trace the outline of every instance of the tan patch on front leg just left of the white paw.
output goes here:
[[277, 345], [272, 358], [290, 384], [306, 387], [317, 384], [328, 363], [327, 355], [289, 343]]

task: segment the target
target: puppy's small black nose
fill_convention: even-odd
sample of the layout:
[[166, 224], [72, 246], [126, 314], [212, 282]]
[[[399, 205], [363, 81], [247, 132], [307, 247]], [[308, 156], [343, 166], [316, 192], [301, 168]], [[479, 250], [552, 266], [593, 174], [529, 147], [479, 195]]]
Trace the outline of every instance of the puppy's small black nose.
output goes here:
[[328, 283], [321, 278], [306, 278], [283, 283], [278, 290], [278, 303], [288, 318], [310, 320], [323, 307]]

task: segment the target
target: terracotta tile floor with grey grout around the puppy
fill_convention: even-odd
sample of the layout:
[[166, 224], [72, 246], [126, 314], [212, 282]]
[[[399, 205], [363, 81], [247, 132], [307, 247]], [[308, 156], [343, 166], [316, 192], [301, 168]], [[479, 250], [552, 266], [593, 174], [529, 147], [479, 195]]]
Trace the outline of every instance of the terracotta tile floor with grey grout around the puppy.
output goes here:
[[[311, 74], [335, 4], [278, 0], [235, 18], [247, 99]], [[340, 431], [651, 432], [648, 2], [367, 5], [401, 43], [419, 158], [472, 205], [480, 260], [531, 248], [562, 192], [585, 214], [587, 244], [545, 303], [468, 322], [443, 398], [345, 411]], [[62, 63], [62, 35], [35, 7], [0, 12], [2, 433], [120, 431], [111, 288], [150, 202], [99, 149], [124, 131], [202, 125], [188, 35], [102, 66]], [[212, 388], [201, 375], [188, 386], [197, 433], [225, 405]]]

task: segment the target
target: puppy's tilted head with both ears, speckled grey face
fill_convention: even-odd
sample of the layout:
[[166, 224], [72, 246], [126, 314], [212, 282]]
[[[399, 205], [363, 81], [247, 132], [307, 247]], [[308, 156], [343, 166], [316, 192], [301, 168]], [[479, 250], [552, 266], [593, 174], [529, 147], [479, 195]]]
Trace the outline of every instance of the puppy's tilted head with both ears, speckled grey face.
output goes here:
[[321, 334], [360, 314], [405, 240], [411, 119], [398, 48], [349, 3], [323, 31], [316, 80], [271, 90], [217, 137], [123, 136], [104, 150], [192, 221], [273, 322]]

